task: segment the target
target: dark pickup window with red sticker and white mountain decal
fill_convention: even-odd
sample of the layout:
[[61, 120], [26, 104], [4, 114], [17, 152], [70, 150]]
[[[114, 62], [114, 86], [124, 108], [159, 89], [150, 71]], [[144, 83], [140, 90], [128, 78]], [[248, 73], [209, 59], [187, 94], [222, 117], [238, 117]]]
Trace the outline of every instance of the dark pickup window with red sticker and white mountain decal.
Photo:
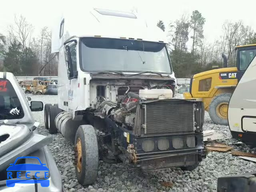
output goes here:
[[0, 120], [23, 117], [24, 112], [12, 84], [10, 81], [0, 78]]

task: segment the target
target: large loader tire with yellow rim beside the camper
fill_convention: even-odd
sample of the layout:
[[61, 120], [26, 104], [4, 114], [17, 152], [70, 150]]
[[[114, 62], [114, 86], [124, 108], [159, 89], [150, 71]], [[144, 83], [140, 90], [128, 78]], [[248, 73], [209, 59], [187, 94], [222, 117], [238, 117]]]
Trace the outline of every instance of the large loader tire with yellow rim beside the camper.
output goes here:
[[228, 125], [228, 103], [231, 93], [222, 93], [214, 97], [209, 106], [209, 115], [214, 124]]

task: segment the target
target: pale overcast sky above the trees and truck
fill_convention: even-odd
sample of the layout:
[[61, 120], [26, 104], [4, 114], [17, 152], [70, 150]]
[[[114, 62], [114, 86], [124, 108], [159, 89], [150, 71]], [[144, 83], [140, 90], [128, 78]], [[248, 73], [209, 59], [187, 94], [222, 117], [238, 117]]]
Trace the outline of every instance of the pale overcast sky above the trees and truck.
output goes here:
[[34, 26], [33, 35], [37, 36], [44, 26], [52, 28], [54, 20], [63, 11], [76, 12], [78, 7], [88, 6], [126, 12], [135, 8], [147, 22], [156, 24], [162, 20], [167, 30], [170, 22], [198, 10], [206, 19], [204, 36], [207, 42], [219, 38], [225, 20], [242, 20], [244, 25], [256, 30], [254, 0], [8, 0], [0, 3], [0, 33], [8, 33], [8, 26], [13, 24], [15, 14], [26, 17]]

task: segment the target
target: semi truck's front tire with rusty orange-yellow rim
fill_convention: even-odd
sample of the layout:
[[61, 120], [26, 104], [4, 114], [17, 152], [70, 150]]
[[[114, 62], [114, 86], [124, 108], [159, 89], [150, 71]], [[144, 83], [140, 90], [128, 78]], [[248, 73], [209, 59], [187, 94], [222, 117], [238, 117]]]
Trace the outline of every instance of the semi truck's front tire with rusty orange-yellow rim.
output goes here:
[[80, 184], [93, 184], [98, 174], [98, 141], [91, 125], [80, 125], [76, 132], [76, 177]]

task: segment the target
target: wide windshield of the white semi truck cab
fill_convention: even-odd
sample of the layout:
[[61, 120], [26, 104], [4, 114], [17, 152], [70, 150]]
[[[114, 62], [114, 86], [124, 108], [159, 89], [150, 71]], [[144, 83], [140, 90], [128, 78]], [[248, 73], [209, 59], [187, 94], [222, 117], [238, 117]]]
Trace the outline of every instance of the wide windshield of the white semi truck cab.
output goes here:
[[171, 74], [166, 44], [142, 40], [82, 38], [81, 68], [84, 71], [152, 71]]

